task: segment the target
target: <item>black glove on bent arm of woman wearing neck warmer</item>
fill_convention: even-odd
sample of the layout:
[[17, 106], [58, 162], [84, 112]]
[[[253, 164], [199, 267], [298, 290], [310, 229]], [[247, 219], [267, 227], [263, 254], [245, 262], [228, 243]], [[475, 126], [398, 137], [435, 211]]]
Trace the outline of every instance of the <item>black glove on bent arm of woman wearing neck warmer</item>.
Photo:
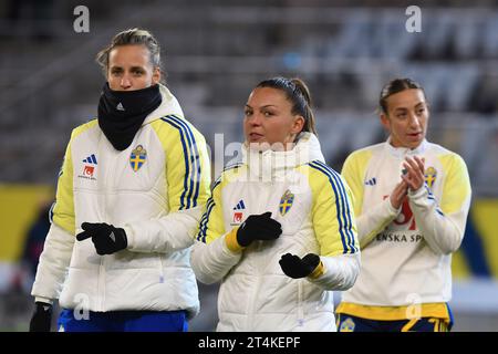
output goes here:
[[84, 230], [76, 235], [76, 240], [83, 241], [92, 238], [97, 254], [112, 254], [124, 250], [128, 246], [126, 232], [123, 229], [113, 227], [105, 222], [91, 223], [83, 222], [81, 228]]

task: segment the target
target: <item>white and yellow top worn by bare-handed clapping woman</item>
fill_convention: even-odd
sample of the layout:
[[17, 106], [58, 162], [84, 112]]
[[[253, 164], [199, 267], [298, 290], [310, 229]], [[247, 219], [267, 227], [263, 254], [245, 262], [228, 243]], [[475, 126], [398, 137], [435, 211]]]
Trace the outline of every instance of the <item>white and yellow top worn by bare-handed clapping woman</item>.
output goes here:
[[[396, 210], [390, 195], [406, 156], [425, 158], [425, 185]], [[342, 170], [354, 196], [362, 268], [338, 313], [370, 320], [449, 320], [452, 252], [464, 238], [470, 205], [465, 162], [424, 140], [416, 149], [390, 140], [351, 154]]]

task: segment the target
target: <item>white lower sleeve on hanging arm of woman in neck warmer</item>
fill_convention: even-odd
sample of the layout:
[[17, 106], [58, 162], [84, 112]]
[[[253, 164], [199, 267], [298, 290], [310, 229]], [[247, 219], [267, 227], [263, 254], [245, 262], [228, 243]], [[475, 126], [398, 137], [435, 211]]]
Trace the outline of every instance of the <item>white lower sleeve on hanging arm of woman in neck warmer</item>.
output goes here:
[[59, 299], [74, 246], [74, 236], [52, 223], [38, 263], [31, 294], [35, 301]]

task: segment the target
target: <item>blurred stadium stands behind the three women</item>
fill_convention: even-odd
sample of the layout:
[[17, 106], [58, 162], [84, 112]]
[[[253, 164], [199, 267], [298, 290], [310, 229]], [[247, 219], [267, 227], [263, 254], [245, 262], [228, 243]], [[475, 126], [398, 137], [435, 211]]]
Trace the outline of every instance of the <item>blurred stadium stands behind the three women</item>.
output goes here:
[[[471, 4], [470, 4], [471, 3]], [[73, 10], [90, 9], [76, 33]], [[405, 10], [422, 9], [408, 33]], [[250, 90], [278, 74], [311, 88], [325, 157], [381, 142], [380, 90], [395, 76], [426, 88], [428, 138], [468, 165], [473, 206], [454, 256], [454, 331], [498, 331], [498, 4], [388, 0], [0, 1], [0, 331], [25, 331], [40, 242], [71, 129], [96, 114], [95, 53], [143, 27], [163, 45], [167, 83], [214, 148], [241, 142]], [[230, 156], [225, 157], [225, 162]], [[224, 162], [216, 160], [219, 168]], [[217, 285], [200, 285], [193, 331], [212, 331]], [[339, 294], [338, 299], [339, 300]]]

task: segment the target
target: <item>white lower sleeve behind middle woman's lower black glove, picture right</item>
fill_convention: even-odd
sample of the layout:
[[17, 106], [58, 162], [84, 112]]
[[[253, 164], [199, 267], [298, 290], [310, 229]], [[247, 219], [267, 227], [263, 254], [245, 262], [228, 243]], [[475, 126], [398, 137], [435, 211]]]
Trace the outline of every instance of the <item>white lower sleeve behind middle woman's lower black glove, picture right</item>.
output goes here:
[[347, 290], [354, 285], [360, 273], [360, 252], [335, 257], [320, 257], [324, 272], [319, 278], [307, 278], [325, 290]]

